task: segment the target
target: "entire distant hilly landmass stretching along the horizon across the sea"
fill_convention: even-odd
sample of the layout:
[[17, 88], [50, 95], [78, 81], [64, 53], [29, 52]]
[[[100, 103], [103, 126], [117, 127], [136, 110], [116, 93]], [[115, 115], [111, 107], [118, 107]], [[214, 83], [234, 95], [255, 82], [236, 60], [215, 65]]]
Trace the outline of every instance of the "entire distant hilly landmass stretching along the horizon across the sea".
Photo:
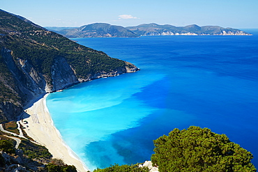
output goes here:
[[135, 38], [140, 36], [252, 36], [239, 29], [221, 26], [172, 26], [169, 24], [140, 24], [139, 26], [115, 26], [106, 23], [94, 23], [79, 28], [46, 27], [66, 38]]

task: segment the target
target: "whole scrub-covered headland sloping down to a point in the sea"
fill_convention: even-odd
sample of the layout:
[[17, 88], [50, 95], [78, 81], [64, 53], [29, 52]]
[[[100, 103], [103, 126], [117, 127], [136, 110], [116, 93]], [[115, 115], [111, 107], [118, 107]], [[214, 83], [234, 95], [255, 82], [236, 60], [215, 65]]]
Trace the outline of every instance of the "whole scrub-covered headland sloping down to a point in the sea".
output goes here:
[[29, 100], [100, 77], [139, 70], [0, 10], [0, 122], [15, 120]]

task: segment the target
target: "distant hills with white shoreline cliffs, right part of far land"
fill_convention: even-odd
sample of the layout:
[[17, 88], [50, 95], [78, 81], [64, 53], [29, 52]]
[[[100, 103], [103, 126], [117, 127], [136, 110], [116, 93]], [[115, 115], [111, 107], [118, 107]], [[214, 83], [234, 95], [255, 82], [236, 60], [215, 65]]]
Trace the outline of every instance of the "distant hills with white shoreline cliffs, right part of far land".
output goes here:
[[250, 33], [232, 28], [222, 28], [220, 26], [197, 26], [192, 24], [189, 26], [172, 26], [169, 24], [140, 24], [139, 26], [126, 27], [130, 31], [137, 33], [139, 36], [250, 36]]

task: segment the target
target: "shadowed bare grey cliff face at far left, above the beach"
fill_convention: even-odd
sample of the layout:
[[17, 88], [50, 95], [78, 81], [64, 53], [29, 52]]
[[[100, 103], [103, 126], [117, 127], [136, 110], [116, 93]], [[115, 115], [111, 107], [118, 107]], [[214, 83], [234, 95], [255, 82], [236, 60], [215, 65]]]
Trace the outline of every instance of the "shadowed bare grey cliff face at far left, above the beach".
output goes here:
[[[1, 56], [13, 76], [10, 81], [4, 79], [5, 85], [18, 97], [17, 100], [0, 102], [0, 120], [16, 120], [23, 110], [23, 105], [29, 100], [45, 94], [45, 79], [27, 61], [17, 60], [11, 55], [12, 51], [3, 47]], [[10, 84], [11, 83], [11, 84]]]

